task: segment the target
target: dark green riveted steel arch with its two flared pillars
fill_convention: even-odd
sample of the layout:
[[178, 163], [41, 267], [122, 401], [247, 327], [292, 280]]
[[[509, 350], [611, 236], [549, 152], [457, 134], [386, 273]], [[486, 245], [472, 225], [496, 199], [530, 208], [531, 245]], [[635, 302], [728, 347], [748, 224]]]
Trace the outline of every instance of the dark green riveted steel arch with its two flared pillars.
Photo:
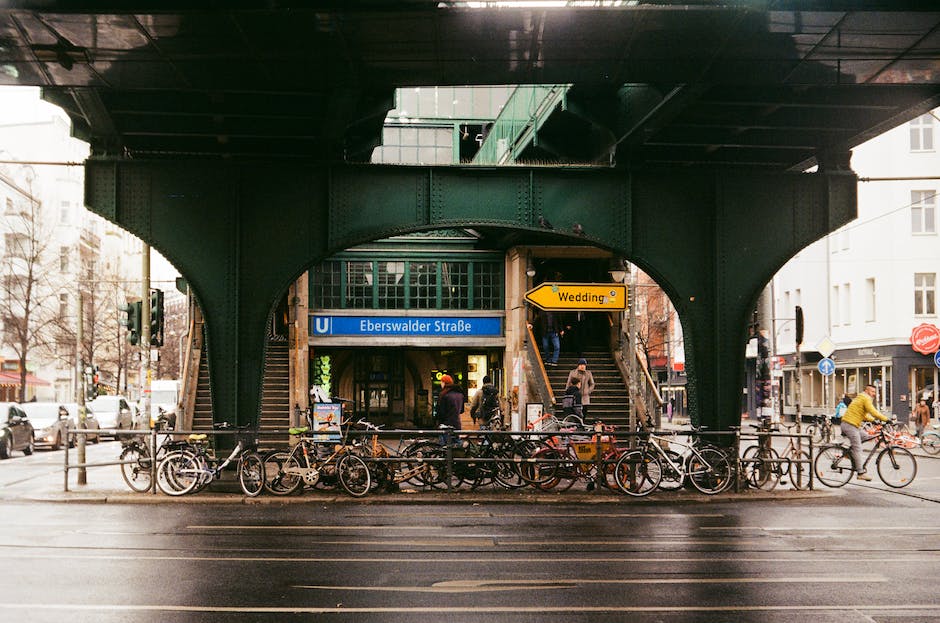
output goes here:
[[849, 171], [316, 166], [98, 160], [86, 204], [159, 249], [207, 321], [214, 419], [258, 418], [273, 302], [356, 244], [441, 227], [571, 235], [629, 258], [683, 324], [693, 417], [739, 417], [746, 320], [786, 260], [854, 218]]

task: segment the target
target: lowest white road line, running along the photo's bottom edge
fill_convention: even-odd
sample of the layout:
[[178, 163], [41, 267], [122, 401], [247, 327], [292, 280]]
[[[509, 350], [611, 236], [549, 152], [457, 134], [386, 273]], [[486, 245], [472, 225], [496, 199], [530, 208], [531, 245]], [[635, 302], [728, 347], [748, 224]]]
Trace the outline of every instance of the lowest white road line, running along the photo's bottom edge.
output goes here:
[[940, 603], [928, 604], [817, 604], [806, 606], [459, 606], [430, 605], [425, 607], [317, 607], [317, 606], [211, 606], [157, 604], [13, 604], [0, 603], [4, 610], [74, 610], [85, 612], [212, 612], [235, 614], [568, 614], [595, 612], [911, 612], [940, 611]]

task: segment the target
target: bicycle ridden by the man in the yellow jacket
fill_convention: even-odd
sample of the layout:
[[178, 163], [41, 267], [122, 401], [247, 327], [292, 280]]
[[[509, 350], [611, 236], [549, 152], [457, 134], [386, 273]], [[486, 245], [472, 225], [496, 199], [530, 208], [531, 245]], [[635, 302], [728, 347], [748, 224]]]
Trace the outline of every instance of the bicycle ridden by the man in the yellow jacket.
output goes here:
[[[917, 459], [910, 450], [893, 442], [893, 435], [888, 426], [876, 426], [873, 431], [875, 436], [865, 441], [877, 441], [868, 451], [861, 471], [867, 471], [868, 463], [877, 454], [875, 465], [881, 482], [895, 489], [911, 484], [917, 476]], [[827, 487], [842, 487], [855, 472], [852, 450], [844, 444], [823, 446], [816, 455], [813, 468], [816, 478]]]

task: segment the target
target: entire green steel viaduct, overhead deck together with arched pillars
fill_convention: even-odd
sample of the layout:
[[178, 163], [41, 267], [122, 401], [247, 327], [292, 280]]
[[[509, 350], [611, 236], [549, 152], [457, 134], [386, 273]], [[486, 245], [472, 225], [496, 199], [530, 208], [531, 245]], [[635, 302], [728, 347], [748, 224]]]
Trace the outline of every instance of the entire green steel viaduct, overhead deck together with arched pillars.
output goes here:
[[[21, 0], [0, 8], [0, 84], [41, 86], [68, 112], [91, 144], [87, 205], [192, 284], [217, 421], [258, 417], [266, 321], [305, 269], [370, 240], [474, 227], [595, 244], [650, 273], [682, 319], [693, 417], [725, 427], [758, 292], [855, 216], [851, 149], [940, 105], [940, 12]], [[566, 91], [528, 130], [496, 129], [489, 164], [357, 164], [395, 89], [429, 85]], [[514, 166], [493, 165], [501, 150]]]

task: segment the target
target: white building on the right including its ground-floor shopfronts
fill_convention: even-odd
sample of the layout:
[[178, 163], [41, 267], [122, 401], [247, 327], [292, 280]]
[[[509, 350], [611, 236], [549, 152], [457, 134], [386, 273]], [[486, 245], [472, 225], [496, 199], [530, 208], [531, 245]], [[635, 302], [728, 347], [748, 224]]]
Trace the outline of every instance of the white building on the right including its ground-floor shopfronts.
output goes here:
[[[878, 388], [879, 408], [902, 420], [917, 398], [926, 395], [928, 404], [935, 398], [934, 354], [914, 350], [911, 334], [919, 325], [938, 324], [938, 131], [935, 110], [859, 146], [852, 157], [860, 178], [858, 218], [804, 249], [775, 276], [785, 413], [795, 413], [797, 379], [804, 414], [832, 413], [844, 394], [868, 383]], [[799, 372], [795, 306], [805, 315]], [[835, 370], [824, 375], [818, 364], [830, 350]]]

